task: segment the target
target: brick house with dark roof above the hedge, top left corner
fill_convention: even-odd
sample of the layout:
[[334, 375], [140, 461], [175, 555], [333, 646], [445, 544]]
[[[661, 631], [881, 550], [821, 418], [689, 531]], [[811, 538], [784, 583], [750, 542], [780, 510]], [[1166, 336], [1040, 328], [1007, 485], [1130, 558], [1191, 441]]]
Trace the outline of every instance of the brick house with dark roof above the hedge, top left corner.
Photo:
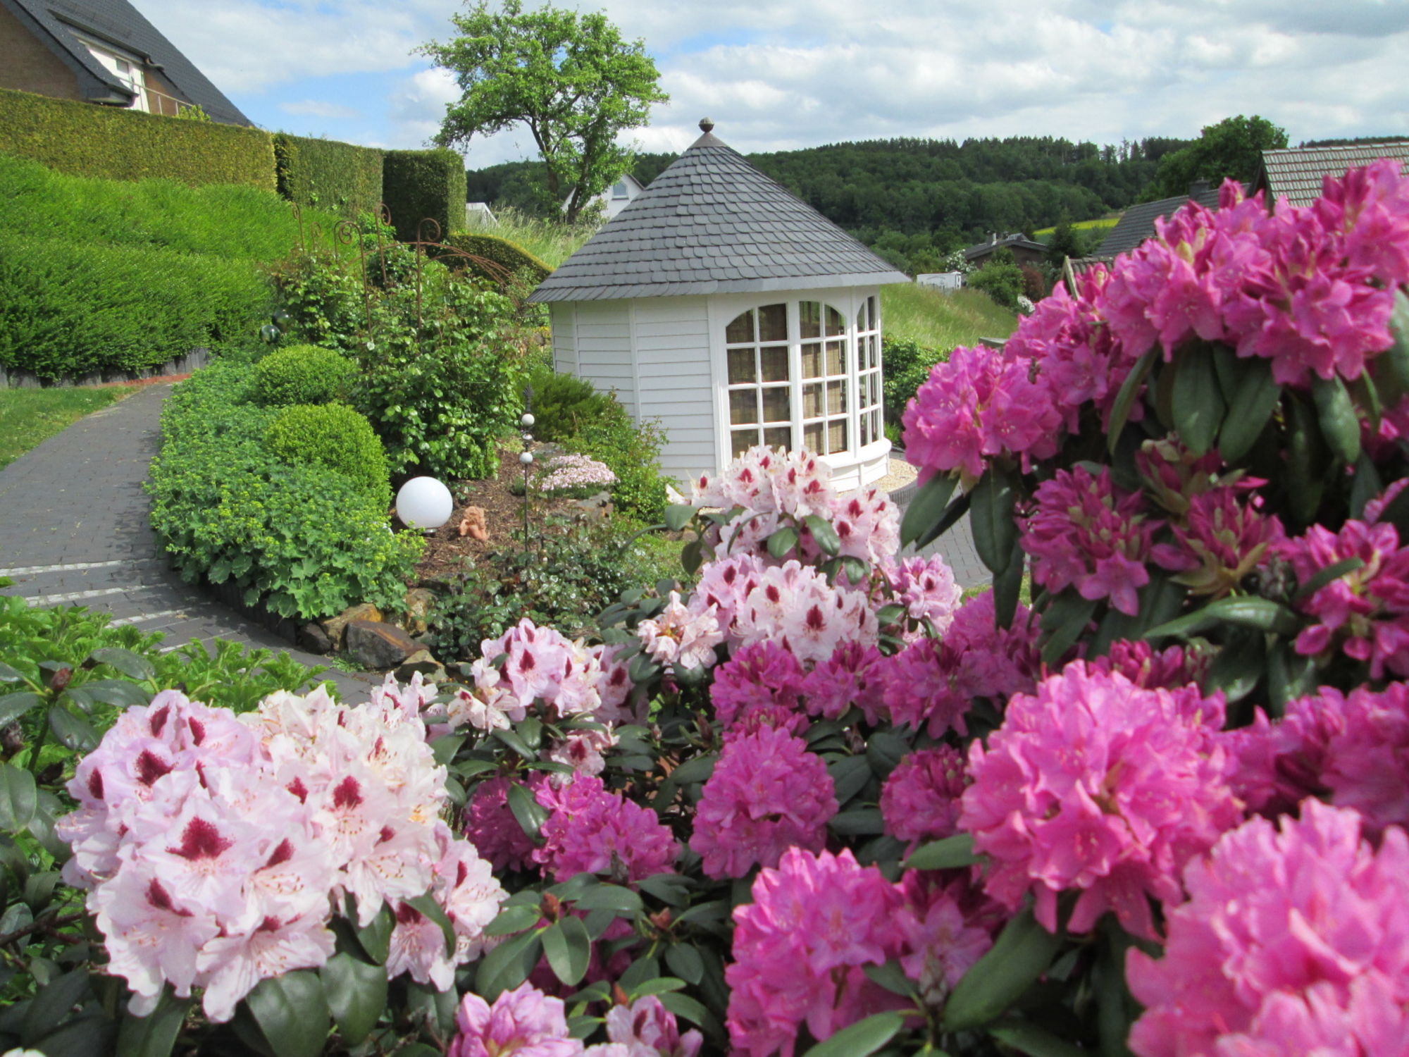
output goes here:
[[254, 124], [127, 0], [0, 0], [0, 87]]

